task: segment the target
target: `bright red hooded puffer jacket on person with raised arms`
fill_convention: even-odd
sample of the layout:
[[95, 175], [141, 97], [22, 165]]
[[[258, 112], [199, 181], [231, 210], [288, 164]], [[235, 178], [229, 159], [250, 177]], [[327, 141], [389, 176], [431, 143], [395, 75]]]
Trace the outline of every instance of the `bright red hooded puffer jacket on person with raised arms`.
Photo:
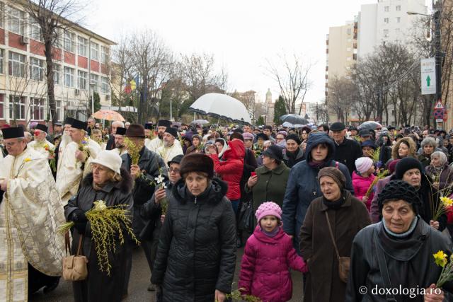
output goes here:
[[241, 198], [241, 178], [243, 173], [243, 157], [246, 149], [243, 146], [243, 141], [234, 139], [228, 144], [227, 149], [222, 156], [223, 161], [219, 160], [217, 153], [211, 154], [214, 161], [214, 171], [222, 180], [228, 184], [226, 197], [230, 200]]

